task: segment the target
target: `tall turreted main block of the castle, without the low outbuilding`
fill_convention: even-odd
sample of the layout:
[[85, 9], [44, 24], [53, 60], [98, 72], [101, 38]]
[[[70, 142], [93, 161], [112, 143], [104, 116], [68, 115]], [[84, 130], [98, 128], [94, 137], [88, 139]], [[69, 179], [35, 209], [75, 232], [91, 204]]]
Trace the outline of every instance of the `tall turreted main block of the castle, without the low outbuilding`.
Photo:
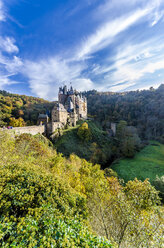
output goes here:
[[52, 123], [59, 122], [62, 125], [76, 126], [80, 119], [87, 118], [87, 99], [73, 90], [72, 86], [59, 88], [58, 102], [52, 110]]

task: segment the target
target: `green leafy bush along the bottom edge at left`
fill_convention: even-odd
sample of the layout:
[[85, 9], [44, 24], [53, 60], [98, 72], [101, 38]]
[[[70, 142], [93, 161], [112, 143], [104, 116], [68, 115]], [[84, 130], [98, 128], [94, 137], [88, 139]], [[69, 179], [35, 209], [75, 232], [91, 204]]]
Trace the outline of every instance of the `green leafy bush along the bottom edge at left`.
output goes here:
[[17, 219], [1, 218], [1, 247], [111, 247], [109, 241], [92, 235], [78, 217], [63, 218], [51, 206]]

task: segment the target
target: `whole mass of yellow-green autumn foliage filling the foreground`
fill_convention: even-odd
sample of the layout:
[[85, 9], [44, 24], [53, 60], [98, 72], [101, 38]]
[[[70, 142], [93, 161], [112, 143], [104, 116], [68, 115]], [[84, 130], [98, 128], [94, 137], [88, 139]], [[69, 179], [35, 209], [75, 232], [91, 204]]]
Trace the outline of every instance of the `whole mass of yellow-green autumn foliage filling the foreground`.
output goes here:
[[162, 243], [162, 207], [148, 180], [123, 185], [110, 170], [63, 157], [41, 135], [0, 132], [0, 182], [3, 248]]

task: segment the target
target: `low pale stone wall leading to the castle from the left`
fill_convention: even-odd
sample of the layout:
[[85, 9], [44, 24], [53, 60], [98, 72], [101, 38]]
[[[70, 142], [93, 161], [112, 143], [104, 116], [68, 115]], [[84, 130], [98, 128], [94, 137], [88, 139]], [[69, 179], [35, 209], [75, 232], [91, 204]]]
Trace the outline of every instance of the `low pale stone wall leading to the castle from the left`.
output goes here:
[[12, 129], [1, 128], [1, 130], [5, 130], [10, 133], [17, 134], [17, 135], [20, 135], [22, 133], [29, 133], [29, 134], [35, 135], [38, 133], [43, 134], [45, 132], [45, 126], [42, 125], [42, 126], [13, 127]]

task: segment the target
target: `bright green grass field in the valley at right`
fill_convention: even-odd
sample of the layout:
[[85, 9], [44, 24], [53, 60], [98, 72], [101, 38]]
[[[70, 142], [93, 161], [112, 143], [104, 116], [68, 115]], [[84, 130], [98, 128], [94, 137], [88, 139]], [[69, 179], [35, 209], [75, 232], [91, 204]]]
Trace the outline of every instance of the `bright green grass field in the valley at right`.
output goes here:
[[121, 159], [112, 167], [125, 182], [137, 177], [140, 180], [150, 179], [152, 183], [156, 175], [164, 175], [164, 145], [151, 142], [132, 159]]

